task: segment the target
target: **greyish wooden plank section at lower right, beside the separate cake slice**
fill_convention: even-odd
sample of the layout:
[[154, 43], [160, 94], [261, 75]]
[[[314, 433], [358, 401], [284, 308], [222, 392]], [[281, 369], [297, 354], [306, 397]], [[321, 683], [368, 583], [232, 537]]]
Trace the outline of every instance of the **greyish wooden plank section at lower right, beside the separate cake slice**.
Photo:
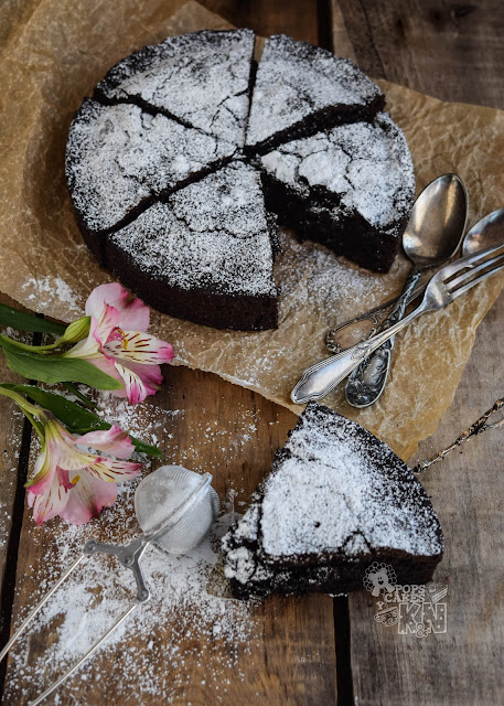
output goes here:
[[[420, 446], [430, 458], [501, 397], [504, 301], [486, 317], [452, 406]], [[491, 341], [494, 341], [491, 344]], [[352, 596], [352, 673], [360, 706], [503, 702], [504, 482], [502, 429], [468, 441], [421, 475], [444, 532], [436, 580], [448, 584], [446, 634], [401, 635], [374, 621], [375, 600]]]

